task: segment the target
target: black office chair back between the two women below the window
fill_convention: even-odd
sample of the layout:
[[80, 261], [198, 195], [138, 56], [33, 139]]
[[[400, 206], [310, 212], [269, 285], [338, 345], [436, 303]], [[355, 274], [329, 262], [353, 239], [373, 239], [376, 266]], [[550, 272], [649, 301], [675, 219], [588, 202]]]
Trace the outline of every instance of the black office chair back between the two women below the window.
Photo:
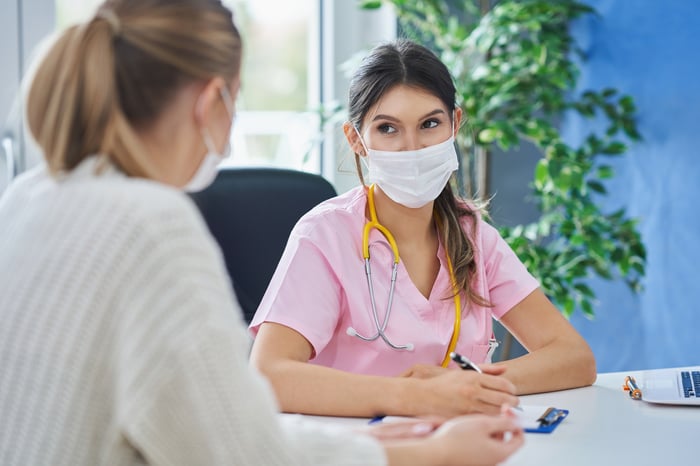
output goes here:
[[250, 322], [306, 212], [336, 195], [320, 175], [277, 168], [221, 168], [192, 198], [219, 243], [238, 302]]

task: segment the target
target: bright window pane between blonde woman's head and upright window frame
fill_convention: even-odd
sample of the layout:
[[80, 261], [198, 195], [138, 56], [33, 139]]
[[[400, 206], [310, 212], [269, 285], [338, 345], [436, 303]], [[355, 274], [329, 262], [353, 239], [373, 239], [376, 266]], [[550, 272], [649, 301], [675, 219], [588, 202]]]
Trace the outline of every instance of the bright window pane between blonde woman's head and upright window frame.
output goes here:
[[228, 0], [244, 37], [230, 165], [319, 172], [319, 2]]

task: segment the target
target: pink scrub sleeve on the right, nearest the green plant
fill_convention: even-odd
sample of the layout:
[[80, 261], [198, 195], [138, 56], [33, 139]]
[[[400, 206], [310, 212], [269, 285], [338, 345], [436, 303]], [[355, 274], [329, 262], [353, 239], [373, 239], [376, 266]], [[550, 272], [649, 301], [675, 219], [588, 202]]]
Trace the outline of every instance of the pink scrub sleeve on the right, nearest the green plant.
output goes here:
[[498, 230], [479, 220], [478, 232], [489, 300], [493, 304], [491, 312], [500, 319], [540, 284], [528, 272]]

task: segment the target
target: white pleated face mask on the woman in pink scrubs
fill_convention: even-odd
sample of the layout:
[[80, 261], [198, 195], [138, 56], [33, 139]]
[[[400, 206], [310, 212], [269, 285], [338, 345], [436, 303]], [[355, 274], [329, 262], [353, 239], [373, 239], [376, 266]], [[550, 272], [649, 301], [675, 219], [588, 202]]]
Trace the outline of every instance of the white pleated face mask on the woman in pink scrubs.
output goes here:
[[459, 166], [454, 136], [433, 146], [406, 151], [368, 149], [362, 137], [360, 142], [367, 152], [370, 181], [394, 202], [414, 209], [434, 201]]

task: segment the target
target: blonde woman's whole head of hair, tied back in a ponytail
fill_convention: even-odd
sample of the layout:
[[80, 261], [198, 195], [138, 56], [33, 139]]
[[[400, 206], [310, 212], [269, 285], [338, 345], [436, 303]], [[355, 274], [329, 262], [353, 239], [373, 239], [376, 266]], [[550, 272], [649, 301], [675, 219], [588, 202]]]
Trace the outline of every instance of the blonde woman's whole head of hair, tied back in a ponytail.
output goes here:
[[105, 154], [126, 174], [151, 177], [135, 128], [147, 129], [184, 85], [231, 83], [241, 47], [219, 0], [107, 0], [63, 32], [34, 72], [26, 118], [49, 170]]

